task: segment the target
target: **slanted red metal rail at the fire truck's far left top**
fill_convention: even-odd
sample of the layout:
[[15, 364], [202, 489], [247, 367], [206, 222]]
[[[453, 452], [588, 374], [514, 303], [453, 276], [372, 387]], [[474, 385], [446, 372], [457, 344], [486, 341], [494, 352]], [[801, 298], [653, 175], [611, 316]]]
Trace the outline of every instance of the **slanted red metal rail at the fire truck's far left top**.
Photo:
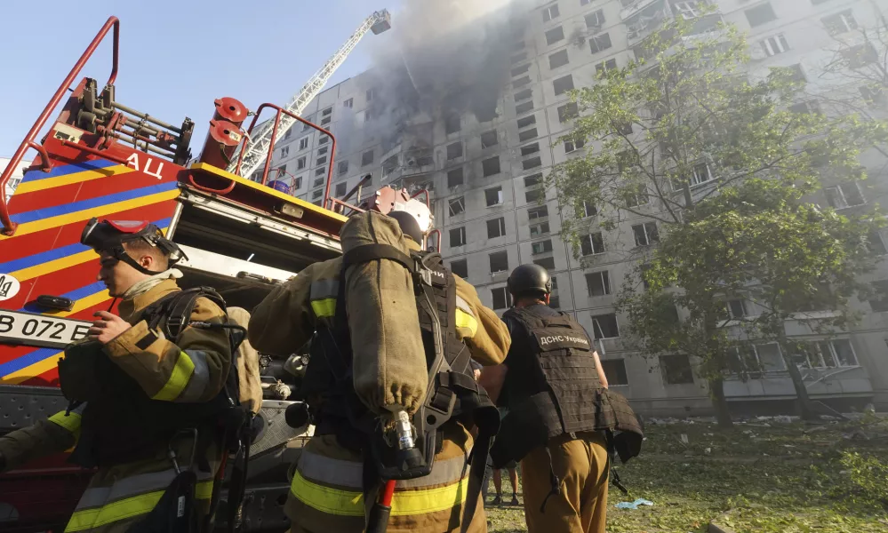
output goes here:
[[26, 135], [25, 139], [21, 141], [19, 148], [15, 151], [15, 154], [12, 155], [12, 159], [3, 171], [3, 174], [0, 174], [0, 223], [3, 224], [4, 235], [15, 235], [15, 227], [18, 226], [12, 222], [9, 217], [9, 199], [6, 198], [6, 183], [12, 178], [12, 172], [19, 166], [19, 163], [21, 163], [21, 159], [25, 156], [25, 152], [28, 151], [28, 148], [34, 148], [40, 153], [40, 157], [43, 159], [43, 171], [51, 170], [52, 166], [49, 163], [49, 156], [46, 155], [46, 150], [35, 142], [37, 135], [40, 134], [40, 131], [46, 124], [46, 121], [49, 120], [52, 112], [59, 106], [59, 103], [68, 91], [68, 88], [74, 83], [74, 80], [80, 74], [80, 71], [84, 69], [86, 62], [92, 58], [92, 54], [95, 53], [99, 44], [105, 40], [105, 36], [108, 35], [108, 31], [110, 31], [111, 28], [114, 28], [114, 56], [111, 65], [111, 76], [108, 76], [108, 85], [114, 84], [117, 79], [120, 20], [116, 17], [108, 17], [108, 21], [105, 22], [105, 25], [102, 26], [99, 33], [92, 39], [92, 43], [86, 48], [83, 55], [80, 56], [80, 59], [77, 60], [74, 68], [71, 68], [71, 72], [65, 77], [65, 81], [61, 83], [59, 89], [52, 95], [49, 104], [44, 107], [43, 112], [37, 117], [36, 122], [31, 126], [30, 131], [28, 131], [28, 135]]

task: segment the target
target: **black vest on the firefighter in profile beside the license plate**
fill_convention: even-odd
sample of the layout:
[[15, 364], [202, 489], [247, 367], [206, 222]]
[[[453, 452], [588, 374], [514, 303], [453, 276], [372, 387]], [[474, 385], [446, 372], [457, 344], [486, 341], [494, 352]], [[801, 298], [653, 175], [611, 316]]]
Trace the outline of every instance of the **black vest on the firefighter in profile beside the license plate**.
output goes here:
[[[189, 325], [197, 298], [209, 298], [225, 310], [225, 301], [212, 289], [174, 292], [157, 300], [142, 318], [150, 330], [160, 328], [177, 342]], [[190, 324], [213, 327], [218, 324]], [[218, 325], [223, 327], [221, 325]], [[243, 336], [229, 334], [232, 369], [226, 386], [210, 402], [173, 403], [148, 398], [136, 380], [102, 352], [98, 341], [69, 346], [59, 362], [62, 393], [71, 407], [86, 402], [81, 435], [71, 461], [84, 467], [109, 466], [154, 457], [180, 430], [198, 428], [202, 438], [216, 436], [217, 428], [241, 428], [246, 412], [237, 394], [235, 350]], [[235, 430], [239, 431], [239, 430]]]

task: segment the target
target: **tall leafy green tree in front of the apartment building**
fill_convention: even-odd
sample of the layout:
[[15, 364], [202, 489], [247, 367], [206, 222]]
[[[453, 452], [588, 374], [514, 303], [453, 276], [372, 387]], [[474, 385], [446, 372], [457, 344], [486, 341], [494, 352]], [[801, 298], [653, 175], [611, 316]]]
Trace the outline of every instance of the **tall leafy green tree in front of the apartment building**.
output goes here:
[[[604, 246], [612, 248], [608, 253], [621, 252], [622, 259], [644, 266], [623, 284], [620, 310], [628, 315], [644, 354], [678, 352], [697, 363], [720, 424], [730, 425], [722, 380], [738, 339], [732, 323], [724, 320], [724, 301], [742, 293], [755, 275], [768, 272], [735, 264], [734, 243], [719, 233], [718, 222], [734, 220], [742, 236], [750, 214], [758, 213], [761, 224], [772, 216], [785, 231], [769, 235], [775, 242], [790, 241], [800, 227], [807, 231], [804, 235], [823, 230], [825, 222], [816, 217], [790, 215], [804, 207], [802, 195], [812, 193], [822, 179], [865, 179], [858, 157], [862, 149], [884, 140], [885, 127], [799, 106], [804, 84], [791, 69], [773, 69], [764, 79], [749, 80], [744, 38], [721, 24], [711, 31], [713, 26], [703, 23], [707, 17], [668, 20], [645, 40], [645, 59], [602, 73], [594, 86], [574, 91], [578, 117], [561, 140], [594, 146], [557, 165], [548, 183], [559, 190], [562, 210], [575, 214], [565, 220], [563, 234], [585, 265], [597, 260], [588, 235], [615, 235], [628, 218], [646, 221], [632, 228], [636, 246]], [[767, 199], [756, 200], [760, 212], [745, 209], [748, 200], [759, 197]], [[806, 216], [808, 210], [803, 210]], [[586, 216], [590, 211], [595, 216]], [[865, 226], [834, 213], [821, 214], [839, 220], [835, 224], [841, 232], [863, 231]], [[715, 238], [724, 240], [718, 253], [708, 249]], [[659, 247], [652, 245], [657, 240]], [[855, 237], [848, 247], [865, 240]], [[756, 251], [766, 256], [761, 247], [750, 248], [747, 255]], [[856, 254], [843, 248], [829, 265], [836, 267], [841, 262], [837, 258]], [[722, 256], [727, 261], [718, 263]], [[812, 264], [812, 254], [796, 259], [798, 267], [820, 273], [825, 281], [833, 279], [826, 267]], [[725, 266], [731, 270], [725, 272]], [[777, 275], [776, 268], [773, 273]], [[639, 278], [647, 290], [639, 289]], [[800, 278], [789, 288], [803, 284]], [[848, 298], [846, 292], [829, 294]], [[787, 306], [780, 307], [784, 314], [796, 310], [790, 297], [804, 299], [804, 294], [788, 296]], [[769, 331], [758, 324], [756, 332]]]

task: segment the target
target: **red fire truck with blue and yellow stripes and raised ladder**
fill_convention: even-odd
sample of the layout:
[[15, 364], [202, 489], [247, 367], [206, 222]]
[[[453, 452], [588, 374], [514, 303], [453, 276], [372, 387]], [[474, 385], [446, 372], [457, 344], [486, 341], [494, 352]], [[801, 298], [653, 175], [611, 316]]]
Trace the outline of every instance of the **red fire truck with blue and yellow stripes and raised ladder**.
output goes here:
[[[208, 102], [210, 131], [200, 155], [193, 157], [194, 122], [167, 123], [117, 99], [120, 22], [108, 19], [0, 175], [0, 434], [65, 410], [57, 362], [65, 346], [85, 336], [96, 311], [115, 309], [116, 300], [96, 281], [95, 252], [79, 240], [87, 220], [153, 222], [188, 256], [177, 266], [184, 273], [183, 288], [211, 286], [228, 306], [250, 310], [276, 283], [313, 262], [338, 256], [338, 234], [349, 214], [388, 212], [419, 202], [388, 187], [364, 203], [352, 200], [361, 197], [367, 179], [348, 195], [333, 198], [336, 139], [299, 116], [361, 36], [385, 31], [388, 25], [385, 11], [365, 20], [284, 107], [262, 104], [251, 111], [233, 98], [215, 100], [214, 108]], [[107, 82], [78, 79], [108, 36], [113, 57]], [[263, 111], [270, 114], [260, 122]], [[269, 187], [277, 178], [269, 175], [276, 139], [294, 123], [329, 139], [322, 205]], [[4, 186], [29, 150], [36, 152], [34, 161], [7, 198]], [[258, 178], [244, 178], [254, 175]], [[424, 206], [428, 209], [428, 193]], [[294, 352], [298, 349], [293, 346]], [[263, 367], [268, 374], [263, 380], [276, 383], [286, 374], [282, 366]], [[283, 504], [289, 472], [307, 429], [285, 423], [284, 412], [292, 403], [263, 402], [250, 449], [241, 530], [288, 527]], [[92, 475], [66, 459], [67, 454], [47, 457], [0, 476], [0, 530], [64, 529]], [[221, 500], [224, 509], [224, 494]], [[219, 519], [216, 524], [226, 526]]]

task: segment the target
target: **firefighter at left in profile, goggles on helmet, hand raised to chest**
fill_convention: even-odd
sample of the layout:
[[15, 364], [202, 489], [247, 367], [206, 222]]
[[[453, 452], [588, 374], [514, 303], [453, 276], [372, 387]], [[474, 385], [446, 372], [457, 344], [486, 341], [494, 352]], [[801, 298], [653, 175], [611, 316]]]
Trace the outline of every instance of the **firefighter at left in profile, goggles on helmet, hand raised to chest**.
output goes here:
[[[96, 313], [88, 337], [68, 346], [60, 386], [75, 401], [0, 438], [0, 465], [75, 447], [73, 462], [98, 467], [66, 532], [196, 531], [221, 457], [216, 418], [231, 364], [228, 332], [185, 327], [172, 342], [172, 310], [158, 306], [181, 300], [182, 274], [171, 266], [182, 253], [156, 226], [92, 219], [81, 242], [99, 253], [98, 280], [120, 298], [119, 316]], [[211, 299], [188, 307], [191, 321], [226, 321]], [[187, 528], [173, 528], [183, 521]]]

